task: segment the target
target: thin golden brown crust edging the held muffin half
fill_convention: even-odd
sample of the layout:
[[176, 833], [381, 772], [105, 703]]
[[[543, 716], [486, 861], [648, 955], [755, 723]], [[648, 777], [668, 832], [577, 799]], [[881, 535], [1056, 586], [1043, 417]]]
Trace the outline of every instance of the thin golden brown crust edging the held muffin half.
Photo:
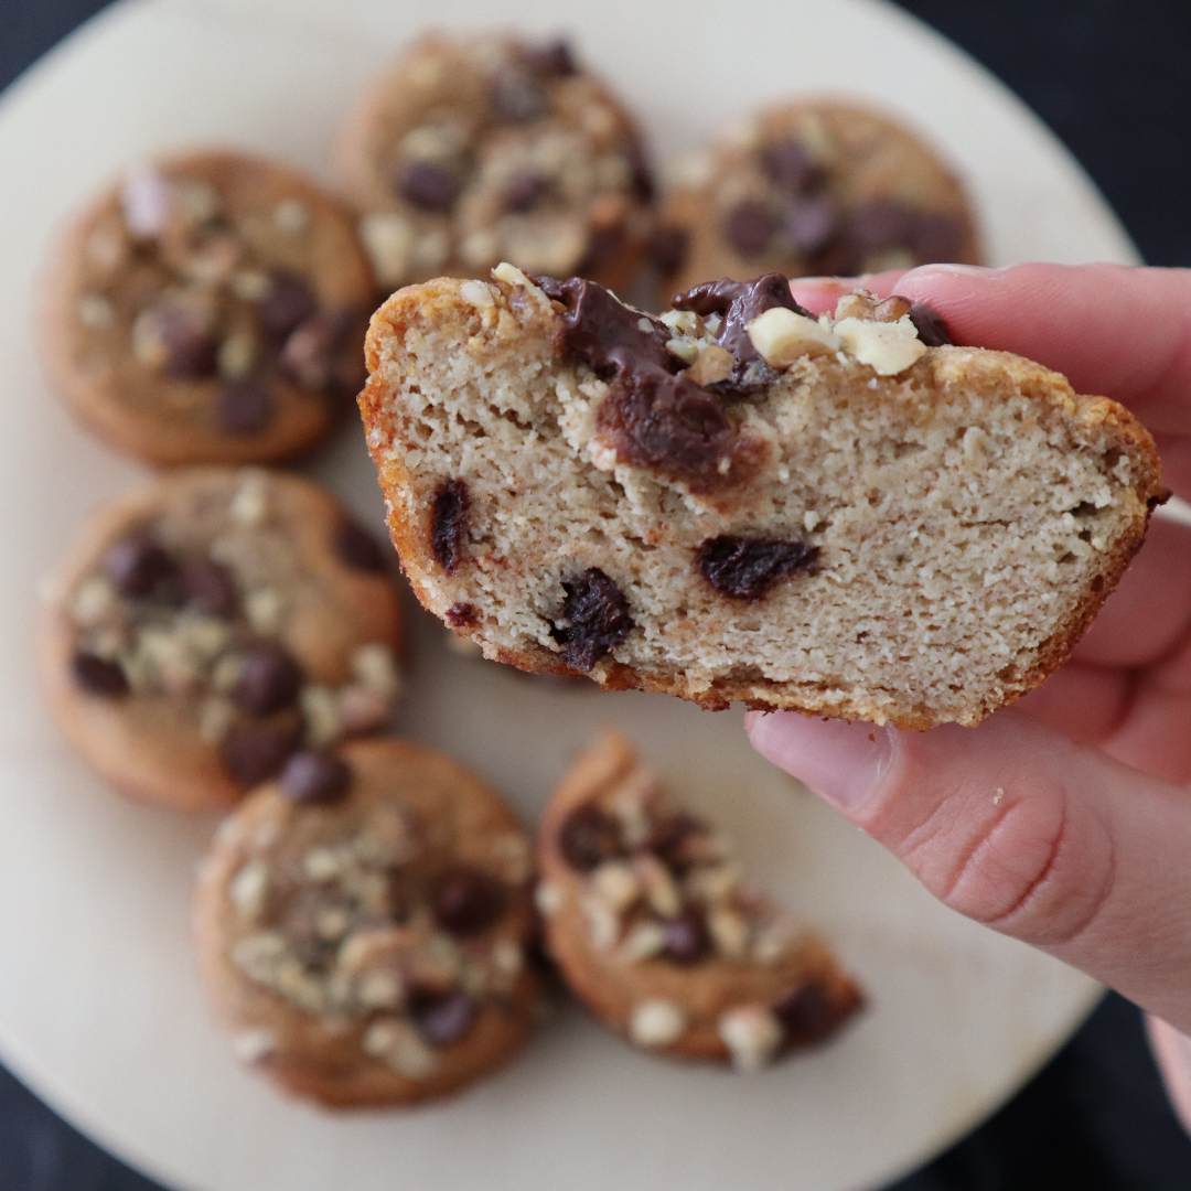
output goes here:
[[[472, 360], [484, 361], [484, 367], [493, 368], [507, 362], [513, 369], [523, 369], [526, 378], [535, 378], [534, 384], [540, 384], [543, 368], [550, 369], [551, 375], [566, 373], [570, 366], [559, 347], [557, 317], [548, 306], [519, 297], [523, 291], [516, 286], [500, 282], [499, 289], [506, 308], [499, 311], [499, 318], [492, 317], [491, 328], [484, 322], [487, 316], [481, 317], [475, 306], [462, 297], [459, 282], [439, 279], [394, 294], [374, 316], [368, 337], [366, 354], [370, 378], [360, 395], [360, 406], [381, 487], [388, 498], [389, 532], [419, 600], [443, 619], [447, 619], [448, 609], [469, 599], [476, 576], [466, 569], [445, 575], [432, 555], [431, 509], [424, 498], [414, 495], [425, 480], [406, 466], [401, 443], [395, 444], [397, 449], [389, 449], [400, 420], [400, 403], [392, 376], [400, 375], [399, 368], [406, 363], [412, 367], [419, 353], [431, 351], [425, 345], [425, 337], [431, 331], [441, 336], [443, 343], [466, 344], [469, 366]], [[386, 372], [388, 368], [397, 370]], [[905, 400], [912, 386], [941, 394], [978, 392], [987, 398], [990, 407], [1003, 400], [1025, 401], [1034, 411], [1029, 417], [1039, 424], [1053, 426], [1061, 441], [1072, 444], [1072, 450], [1085, 450], [1085, 447], [1074, 445], [1078, 439], [1103, 451], [1110, 464], [1114, 459], [1127, 457], [1131, 470], [1120, 488], [1121, 503], [1115, 513], [1118, 522], [1114, 531], [1117, 536], [1097, 555], [1097, 573], [1080, 590], [1070, 615], [1048, 640], [1040, 643], [1028, 667], [1006, 666], [996, 688], [971, 693], [962, 713], [942, 717], [937, 711], [916, 703], [915, 693], [905, 690], [892, 697], [887, 692], [862, 690], [849, 694], [838, 688], [818, 691], [812, 685], [792, 686], [755, 674], [741, 678], [717, 675], [709, 682], [703, 675], [692, 678], [687, 673], [667, 672], [656, 666], [646, 671], [613, 659], [603, 662], [588, 676], [605, 690], [635, 688], [676, 694], [709, 710], [721, 710], [740, 701], [759, 710], [787, 707], [807, 715], [887, 721], [913, 730], [948, 719], [978, 723], [996, 707], [1012, 703], [1042, 682], [1070, 655], [1104, 599], [1116, 587], [1145, 538], [1153, 504], [1164, 497], [1158, 454], [1145, 428], [1116, 403], [1077, 395], [1064, 378], [1008, 353], [936, 348], [928, 350], [897, 378], [872, 378], [867, 381], [865, 374], [854, 368], [836, 363], [834, 357], [821, 356], [799, 362], [791, 369], [791, 375], [828, 378], [830, 384], [840, 386], [840, 393], [846, 394], [854, 406], [871, 409], [874, 416], [888, 403], [900, 403], [898, 417], [910, 423], [915, 419], [929, 423], [933, 417], [929, 404], [911, 405]], [[590, 464], [584, 461], [582, 467]], [[709, 505], [719, 512], [731, 512], [734, 507], [747, 512], [749, 499], [749, 488], [738, 486], [717, 497], [718, 505], [711, 500]], [[734, 505], [734, 501], [737, 504]], [[494, 574], [500, 569], [501, 560], [485, 555], [476, 567], [481, 574]], [[456, 626], [456, 631], [484, 644], [488, 656], [520, 669], [560, 675], [579, 673], [559, 653], [524, 636], [511, 644], [482, 624]]]

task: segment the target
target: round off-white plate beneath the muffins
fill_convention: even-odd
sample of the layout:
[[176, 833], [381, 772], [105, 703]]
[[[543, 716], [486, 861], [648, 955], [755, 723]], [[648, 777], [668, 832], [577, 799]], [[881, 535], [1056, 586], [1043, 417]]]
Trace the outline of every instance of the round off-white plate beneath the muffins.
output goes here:
[[[230, 142], [329, 176], [360, 85], [429, 23], [573, 33], [663, 163], [785, 92], [881, 100], [947, 148], [993, 261], [1133, 262], [1091, 183], [953, 46], [872, 0], [139, 0], [85, 26], [0, 104], [0, 1052], [43, 1096], [177, 1187], [846, 1191], [892, 1178], [1012, 1093], [1083, 1019], [1086, 978], [942, 909], [875, 844], [767, 766], [735, 713], [547, 687], [449, 655], [411, 612], [404, 731], [528, 819], [600, 721], [622, 724], [830, 935], [871, 1009], [834, 1046], [755, 1079], [635, 1054], [578, 1012], [474, 1092], [330, 1117], [239, 1071], [187, 941], [211, 821], [110, 794], [37, 701], [37, 584], [96, 501], [139, 475], [75, 429], [32, 348], [31, 293], [63, 216], [158, 146]], [[379, 523], [358, 434], [318, 460]]]

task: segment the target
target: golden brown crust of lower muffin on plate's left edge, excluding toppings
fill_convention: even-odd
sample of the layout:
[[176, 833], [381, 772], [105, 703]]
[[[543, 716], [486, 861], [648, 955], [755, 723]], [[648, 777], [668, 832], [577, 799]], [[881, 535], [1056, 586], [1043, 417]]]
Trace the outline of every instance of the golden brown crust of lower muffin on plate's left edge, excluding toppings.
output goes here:
[[[148, 694], [107, 699], [79, 688], [70, 668], [79, 640], [71, 600], [114, 541], [172, 510], [177, 516], [179, 507], [204, 493], [226, 499], [242, 474], [216, 467], [172, 472], [100, 509], [62, 560], [39, 609], [36, 644], [50, 715], [80, 756], [130, 798], [201, 811], [235, 805], [243, 788], [201, 738], [193, 700]], [[279, 520], [318, 592], [297, 610], [282, 643], [312, 679], [347, 682], [354, 648], [367, 642], [400, 648], [395, 588], [387, 575], [345, 567], [336, 557], [332, 542], [347, 515], [330, 492], [285, 473], [270, 473], [268, 485]]]

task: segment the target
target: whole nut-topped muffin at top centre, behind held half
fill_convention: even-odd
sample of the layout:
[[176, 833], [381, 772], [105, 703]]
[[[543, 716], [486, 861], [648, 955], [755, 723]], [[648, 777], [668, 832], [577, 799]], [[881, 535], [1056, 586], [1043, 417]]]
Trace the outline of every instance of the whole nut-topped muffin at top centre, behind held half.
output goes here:
[[361, 96], [338, 157], [386, 292], [504, 260], [621, 288], [650, 230], [641, 136], [565, 42], [422, 38]]

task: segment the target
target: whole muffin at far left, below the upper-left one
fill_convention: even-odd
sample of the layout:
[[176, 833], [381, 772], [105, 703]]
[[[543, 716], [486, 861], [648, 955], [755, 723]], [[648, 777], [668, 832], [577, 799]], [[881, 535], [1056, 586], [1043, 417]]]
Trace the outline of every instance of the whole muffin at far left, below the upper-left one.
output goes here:
[[375, 540], [325, 488], [257, 468], [179, 469], [100, 510], [38, 625], [70, 744], [179, 810], [230, 806], [304, 744], [385, 727], [399, 646]]

